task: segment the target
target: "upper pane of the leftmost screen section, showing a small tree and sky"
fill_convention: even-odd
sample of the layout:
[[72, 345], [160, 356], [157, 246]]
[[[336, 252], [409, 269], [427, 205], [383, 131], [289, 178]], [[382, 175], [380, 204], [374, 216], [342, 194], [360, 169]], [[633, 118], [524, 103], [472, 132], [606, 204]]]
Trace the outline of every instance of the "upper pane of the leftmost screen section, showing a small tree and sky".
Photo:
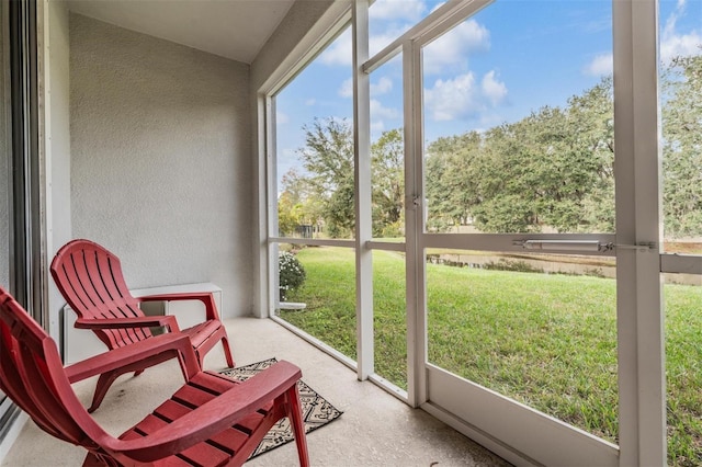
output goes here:
[[343, 35], [275, 96], [280, 237], [353, 238], [351, 44]]

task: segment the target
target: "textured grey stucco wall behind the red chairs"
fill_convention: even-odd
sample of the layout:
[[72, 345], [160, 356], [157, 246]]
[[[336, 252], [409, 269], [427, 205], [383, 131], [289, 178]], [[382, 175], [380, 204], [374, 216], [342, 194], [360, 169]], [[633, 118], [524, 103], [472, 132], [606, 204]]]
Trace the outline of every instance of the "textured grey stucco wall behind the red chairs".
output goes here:
[[72, 236], [116, 253], [133, 288], [214, 282], [252, 312], [249, 68], [70, 16]]

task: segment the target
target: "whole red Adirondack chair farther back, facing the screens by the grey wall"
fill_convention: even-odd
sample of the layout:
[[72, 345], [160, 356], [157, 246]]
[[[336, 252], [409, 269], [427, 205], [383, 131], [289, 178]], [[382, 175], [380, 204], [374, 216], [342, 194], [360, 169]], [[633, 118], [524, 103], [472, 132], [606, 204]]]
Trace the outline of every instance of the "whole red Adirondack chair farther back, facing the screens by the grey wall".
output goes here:
[[[234, 366], [227, 332], [219, 320], [211, 293], [162, 294], [135, 298], [124, 281], [120, 259], [102, 246], [83, 239], [72, 240], [61, 247], [52, 261], [50, 271], [61, 295], [78, 315], [76, 328], [90, 329], [107, 349], [118, 349], [151, 339], [154, 334], [150, 328], [163, 327], [169, 332], [183, 332], [190, 338], [201, 367], [205, 354], [219, 341], [227, 364]], [[139, 308], [143, 301], [163, 300], [200, 300], [205, 305], [206, 319], [192, 328], [180, 330], [176, 317], [147, 317]], [[161, 358], [160, 362], [168, 358], [170, 356]], [[159, 356], [155, 355], [148, 363], [143, 368], [136, 368], [135, 375], [159, 363]], [[129, 371], [132, 369], [114, 369], [99, 378], [90, 412], [100, 406], [112, 383]]]

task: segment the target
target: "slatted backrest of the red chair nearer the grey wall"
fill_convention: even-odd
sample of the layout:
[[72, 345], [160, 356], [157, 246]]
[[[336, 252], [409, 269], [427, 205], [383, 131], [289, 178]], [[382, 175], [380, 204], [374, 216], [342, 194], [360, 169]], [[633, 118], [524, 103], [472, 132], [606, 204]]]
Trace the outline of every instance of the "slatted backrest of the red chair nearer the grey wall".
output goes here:
[[[104, 247], [83, 239], [69, 241], [52, 261], [52, 276], [61, 295], [83, 319], [141, 317], [122, 275], [120, 259]], [[93, 330], [109, 349], [151, 337], [148, 328]]]

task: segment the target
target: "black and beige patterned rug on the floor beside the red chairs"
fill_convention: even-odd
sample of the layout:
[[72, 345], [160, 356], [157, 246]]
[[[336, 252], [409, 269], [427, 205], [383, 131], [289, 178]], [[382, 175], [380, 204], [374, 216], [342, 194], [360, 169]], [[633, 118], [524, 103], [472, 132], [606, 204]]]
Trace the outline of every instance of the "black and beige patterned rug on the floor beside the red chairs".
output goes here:
[[[273, 365], [275, 362], [278, 362], [278, 360], [273, 357], [237, 368], [224, 369], [219, 373], [233, 379], [245, 381], [257, 373]], [[317, 391], [307, 386], [303, 380], [297, 381], [297, 389], [299, 390], [299, 401], [303, 410], [303, 421], [305, 422], [305, 433], [322, 428], [327, 423], [341, 417], [341, 413], [343, 413], [329, 403], [324, 397], [319, 396]], [[293, 436], [293, 431], [286, 417], [273, 425], [249, 458], [267, 453], [275, 447], [282, 446], [283, 444], [290, 443], [293, 440], [295, 440], [295, 437]]]

